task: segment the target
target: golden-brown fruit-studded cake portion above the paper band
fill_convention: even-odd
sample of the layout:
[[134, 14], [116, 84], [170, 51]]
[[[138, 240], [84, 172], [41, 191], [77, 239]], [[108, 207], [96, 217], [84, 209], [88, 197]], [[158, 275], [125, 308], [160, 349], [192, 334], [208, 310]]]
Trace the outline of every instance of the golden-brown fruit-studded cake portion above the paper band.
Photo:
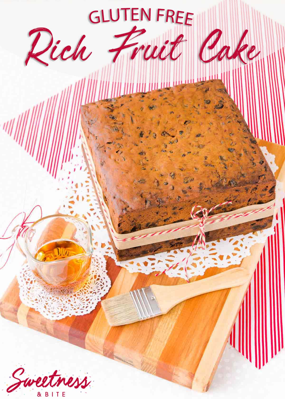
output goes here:
[[221, 80], [89, 103], [81, 124], [118, 233], [188, 220], [193, 205], [232, 200], [220, 213], [275, 198], [273, 173]]

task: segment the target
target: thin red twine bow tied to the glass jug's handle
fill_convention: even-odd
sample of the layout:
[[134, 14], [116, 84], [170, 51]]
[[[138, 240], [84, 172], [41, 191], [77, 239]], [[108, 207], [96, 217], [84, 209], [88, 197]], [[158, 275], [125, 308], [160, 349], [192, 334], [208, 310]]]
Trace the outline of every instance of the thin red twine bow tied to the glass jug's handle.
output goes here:
[[[0, 260], [1, 260], [2, 256], [3, 256], [5, 253], [8, 253], [7, 259], [6, 259], [5, 263], [4, 263], [4, 265], [2, 265], [2, 266], [0, 267], [0, 270], [3, 269], [3, 267], [7, 264], [8, 259], [9, 259], [10, 255], [11, 255], [11, 253], [12, 253], [12, 250], [13, 250], [14, 245], [16, 244], [16, 241], [18, 240], [18, 238], [19, 238], [19, 237], [24, 237], [26, 231], [27, 231], [28, 228], [30, 227], [29, 225], [32, 224], [32, 223], [34, 223], [34, 221], [28, 221], [28, 219], [30, 218], [30, 216], [32, 215], [32, 213], [34, 212], [34, 210], [35, 210], [37, 207], [40, 208], [40, 211], [41, 211], [41, 216], [40, 216], [40, 218], [41, 218], [42, 215], [43, 215], [43, 212], [42, 212], [42, 207], [41, 207], [40, 205], [34, 206], [33, 209], [30, 211], [30, 213], [29, 213], [28, 215], [26, 215], [26, 212], [24, 212], [24, 211], [23, 211], [23, 212], [20, 212], [20, 213], [18, 213], [16, 216], [13, 217], [13, 219], [12, 219], [12, 220], [10, 221], [10, 223], [8, 224], [6, 230], [4, 231], [4, 234], [2, 235], [2, 237], [0, 237], [0, 240], [9, 240], [9, 239], [12, 240], [12, 244], [9, 245], [9, 247], [8, 247], [4, 252], [2, 252], [2, 253], [0, 254]], [[14, 227], [14, 229], [13, 229], [11, 235], [9, 235], [8, 237], [5, 237], [5, 234], [7, 233], [8, 229], [9, 229], [9, 227], [11, 226], [11, 224], [13, 223], [13, 221], [14, 221], [18, 216], [20, 216], [20, 215], [23, 215], [23, 219], [22, 219], [21, 223], [18, 224], [18, 225], [16, 225], [16, 227]]]

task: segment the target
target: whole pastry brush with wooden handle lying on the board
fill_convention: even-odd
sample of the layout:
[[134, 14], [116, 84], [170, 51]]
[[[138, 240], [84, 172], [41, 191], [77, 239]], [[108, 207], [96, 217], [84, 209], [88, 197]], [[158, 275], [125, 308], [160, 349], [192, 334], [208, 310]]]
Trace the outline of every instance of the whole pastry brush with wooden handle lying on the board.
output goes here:
[[110, 326], [122, 326], [166, 314], [178, 303], [194, 296], [249, 283], [246, 269], [235, 267], [206, 279], [180, 285], [152, 284], [101, 302]]

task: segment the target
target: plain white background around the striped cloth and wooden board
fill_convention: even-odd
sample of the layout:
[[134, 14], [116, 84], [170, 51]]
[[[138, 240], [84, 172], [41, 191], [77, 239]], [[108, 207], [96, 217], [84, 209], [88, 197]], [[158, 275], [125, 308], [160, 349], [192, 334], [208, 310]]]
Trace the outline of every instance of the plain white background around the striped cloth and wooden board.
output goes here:
[[[0, 24], [0, 123], [12, 118], [39, 101], [57, 93], [69, 83], [87, 75], [102, 65], [109, 63], [112, 55], [107, 49], [115, 47], [113, 34], [127, 32], [133, 23], [117, 22], [90, 24], [88, 14], [92, 10], [108, 10], [117, 7], [172, 8], [197, 14], [217, 4], [212, 0], [199, 2], [168, 0], [137, 1], [127, 0], [98, 1], [1, 1]], [[247, 3], [257, 10], [283, 23], [284, 2], [271, 0]], [[123, 24], [123, 25], [122, 25]], [[140, 27], [140, 22], [137, 26]], [[152, 38], [169, 29], [169, 24], [148, 22], [144, 40]], [[27, 67], [24, 60], [31, 39], [28, 32], [40, 26], [49, 28], [54, 40], [60, 39], [64, 45], [75, 46], [82, 34], [86, 35], [87, 50], [96, 50], [85, 62], [50, 61], [45, 67], [30, 60]], [[145, 27], [145, 23], [141, 25]], [[105, 38], [105, 40], [103, 40]], [[47, 58], [46, 58], [47, 59]], [[46, 60], [45, 59], [45, 60]], [[48, 61], [49, 62], [49, 61]], [[7, 150], [8, 149], [8, 150]], [[22, 150], [10, 137], [0, 131], [0, 228], [22, 210], [24, 193], [26, 207], [37, 199], [44, 213], [53, 213], [59, 199], [56, 196], [55, 182], [43, 168]], [[14, 254], [8, 266], [0, 271], [0, 295], [14, 277], [22, 258]], [[210, 391], [195, 393], [187, 388], [143, 373], [132, 367], [93, 354], [66, 342], [56, 340], [39, 332], [0, 320], [0, 397], [7, 397], [6, 388], [11, 384], [11, 374], [23, 366], [25, 377], [48, 375], [55, 369], [62, 376], [87, 376], [92, 382], [85, 390], [62, 387], [53, 390], [65, 391], [67, 398], [152, 398], [164, 397], [200, 398], [251, 398], [256, 396], [284, 397], [281, 383], [285, 375], [285, 351], [281, 351], [263, 369], [257, 370], [231, 346], [227, 346], [214, 377]], [[9, 395], [13, 398], [36, 398], [48, 389], [21, 388]], [[50, 391], [50, 390], [49, 390]], [[82, 391], [82, 392], [81, 392]], [[50, 393], [51, 395], [51, 393]], [[51, 397], [51, 396], [49, 396]], [[54, 396], [55, 397], [55, 396]]]

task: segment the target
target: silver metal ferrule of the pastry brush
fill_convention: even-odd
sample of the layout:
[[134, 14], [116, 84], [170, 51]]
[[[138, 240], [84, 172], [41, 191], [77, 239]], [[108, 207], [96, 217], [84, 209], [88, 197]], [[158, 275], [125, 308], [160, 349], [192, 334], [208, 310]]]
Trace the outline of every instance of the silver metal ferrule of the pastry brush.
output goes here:
[[130, 292], [140, 320], [160, 316], [161, 310], [151, 287], [140, 288]]

